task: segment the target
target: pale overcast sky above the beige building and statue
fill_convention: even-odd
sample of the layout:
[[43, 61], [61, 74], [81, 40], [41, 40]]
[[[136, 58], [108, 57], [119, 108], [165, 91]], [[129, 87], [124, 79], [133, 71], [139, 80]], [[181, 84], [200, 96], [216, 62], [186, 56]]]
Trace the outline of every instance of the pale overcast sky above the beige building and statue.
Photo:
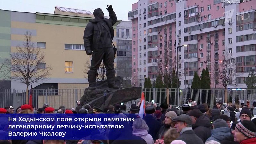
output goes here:
[[0, 9], [20, 12], [54, 13], [54, 7], [67, 7], [87, 10], [93, 13], [96, 8], [101, 8], [108, 16], [106, 7], [113, 6], [117, 19], [128, 20], [128, 12], [132, 10], [132, 4], [138, 0], [0, 0]]

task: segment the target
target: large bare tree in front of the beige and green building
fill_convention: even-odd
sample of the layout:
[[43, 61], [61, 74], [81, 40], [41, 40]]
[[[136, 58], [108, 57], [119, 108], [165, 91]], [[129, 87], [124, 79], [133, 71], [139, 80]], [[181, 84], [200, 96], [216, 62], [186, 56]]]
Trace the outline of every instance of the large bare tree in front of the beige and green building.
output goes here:
[[6, 59], [6, 67], [12, 73], [11, 79], [26, 84], [26, 103], [28, 103], [28, 87], [30, 84], [45, 80], [52, 70], [51, 65], [44, 63], [44, 53], [34, 48], [31, 32], [24, 34], [24, 42], [16, 47], [16, 52], [10, 53]]

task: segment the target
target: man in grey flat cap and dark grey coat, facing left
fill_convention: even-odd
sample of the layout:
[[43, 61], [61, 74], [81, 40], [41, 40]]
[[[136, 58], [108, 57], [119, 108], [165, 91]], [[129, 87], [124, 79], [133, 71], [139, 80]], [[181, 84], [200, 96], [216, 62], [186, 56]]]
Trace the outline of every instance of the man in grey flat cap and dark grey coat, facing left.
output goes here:
[[175, 121], [175, 128], [180, 137], [177, 140], [183, 140], [186, 144], [204, 144], [203, 141], [195, 134], [192, 129], [192, 119], [190, 116], [182, 114], [172, 118]]

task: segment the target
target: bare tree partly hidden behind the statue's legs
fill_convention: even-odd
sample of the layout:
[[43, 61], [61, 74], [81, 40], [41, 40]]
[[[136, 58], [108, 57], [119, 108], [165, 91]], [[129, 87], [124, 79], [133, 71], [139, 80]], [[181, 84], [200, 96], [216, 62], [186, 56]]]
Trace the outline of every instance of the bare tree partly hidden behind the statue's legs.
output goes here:
[[[92, 58], [92, 56], [90, 56], [90, 58]], [[90, 69], [90, 66], [91, 66], [91, 59], [87, 59], [85, 61], [84, 70], [83, 70], [83, 72], [85, 73], [84, 74], [84, 78], [88, 78], [87, 72]], [[116, 70], [115, 66], [114, 66], [114, 70]], [[107, 79], [106, 72], [107, 72], [106, 67], [104, 66], [103, 61], [102, 61], [101, 64], [100, 64], [100, 67], [99, 67], [99, 69], [97, 71], [98, 76], [97, 76], [96, 80], [97, 81], [104, 81], [104, 80], [106, 80]]]

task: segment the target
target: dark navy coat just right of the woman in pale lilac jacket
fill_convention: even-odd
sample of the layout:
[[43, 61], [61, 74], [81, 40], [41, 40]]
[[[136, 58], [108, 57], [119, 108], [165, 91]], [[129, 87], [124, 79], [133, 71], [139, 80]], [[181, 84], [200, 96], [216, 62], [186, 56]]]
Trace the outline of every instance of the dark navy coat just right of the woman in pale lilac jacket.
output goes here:
[[148, 134], [152, 136], [153, 140], [156, 140], [157, 132], [161, 128], [162, 123], [157, 121], [156, 118], [154, 118], [150, 114], [146, 114], [146, 116], [144, 117], [144, 120], [149, 128]]

